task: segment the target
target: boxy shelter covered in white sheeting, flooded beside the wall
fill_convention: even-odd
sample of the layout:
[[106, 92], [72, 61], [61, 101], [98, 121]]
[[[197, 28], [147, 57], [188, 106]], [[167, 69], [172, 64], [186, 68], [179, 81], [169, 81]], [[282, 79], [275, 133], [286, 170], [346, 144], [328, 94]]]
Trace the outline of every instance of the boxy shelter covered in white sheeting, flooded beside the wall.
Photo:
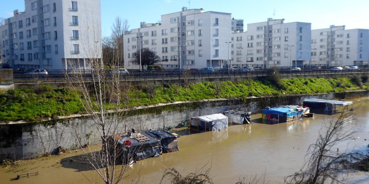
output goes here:
[[228, 127], [228, 117], [223, 114], [211, 114], [191, 118], [191, 129], [198, 131], [221, 130]]

